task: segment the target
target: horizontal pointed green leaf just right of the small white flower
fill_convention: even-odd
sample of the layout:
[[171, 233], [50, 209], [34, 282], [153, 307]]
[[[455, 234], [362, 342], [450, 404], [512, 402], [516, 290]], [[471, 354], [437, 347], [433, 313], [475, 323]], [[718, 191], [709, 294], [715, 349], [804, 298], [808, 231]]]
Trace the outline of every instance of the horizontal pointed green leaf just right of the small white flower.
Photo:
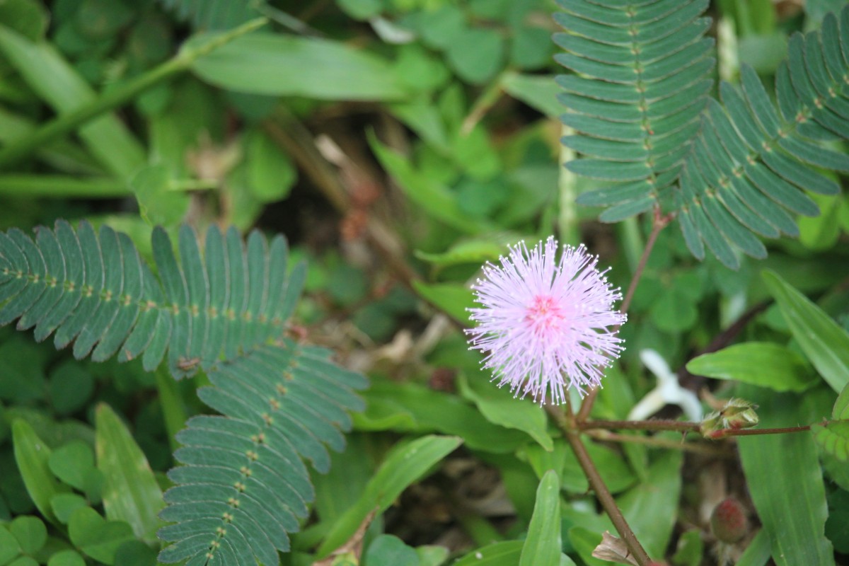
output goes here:
[[804, 391], [818, 379], [793, 350], [771, 342], [746, 342], [703, 354], [687, 370], [708, 378], [732, 379], [775, 391]]

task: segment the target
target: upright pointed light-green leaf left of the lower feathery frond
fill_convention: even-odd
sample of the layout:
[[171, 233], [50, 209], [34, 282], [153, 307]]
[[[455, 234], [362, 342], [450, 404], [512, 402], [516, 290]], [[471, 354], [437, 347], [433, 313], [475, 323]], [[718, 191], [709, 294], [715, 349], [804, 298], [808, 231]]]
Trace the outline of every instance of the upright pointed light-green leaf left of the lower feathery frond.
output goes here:
[[141, 539], [155, 541], [165, 506], [147, 458], [110, 406], [96, 411], [98, 469], [104, 476], [104, 510], [110, 520], [126, 521]]

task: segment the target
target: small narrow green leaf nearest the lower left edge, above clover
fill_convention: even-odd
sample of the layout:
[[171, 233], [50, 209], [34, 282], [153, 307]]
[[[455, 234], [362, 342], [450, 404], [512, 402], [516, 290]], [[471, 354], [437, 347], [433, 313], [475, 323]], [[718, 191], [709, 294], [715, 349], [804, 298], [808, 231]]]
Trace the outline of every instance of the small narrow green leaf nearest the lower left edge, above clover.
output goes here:
[[20, 475], [29, 492], [32, 502], [53, 524], [57, 524], [56, 515], [50, 500], [53, 496], [67, 491], [53, 477], [48, 467], [50, 449], [43, 440], [38, 438], [29, 423], [17, 419], [12, 423], [12, 440], [14, 442], [14, 460], [18, 464]]

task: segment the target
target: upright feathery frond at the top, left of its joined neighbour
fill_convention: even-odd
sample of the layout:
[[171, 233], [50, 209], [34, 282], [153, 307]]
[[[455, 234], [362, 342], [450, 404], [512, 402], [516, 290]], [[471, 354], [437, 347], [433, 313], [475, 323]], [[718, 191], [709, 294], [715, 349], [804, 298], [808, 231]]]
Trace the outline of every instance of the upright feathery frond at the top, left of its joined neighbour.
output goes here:
[[711, 89], [707, 0], [558, 0], [554, 19], [566, 33], [555, 59], [562, 120], [576, 132], [563, 143], [585, 159], [566, 164], [586, 177], [615, 182], [582, 194], [584, 205], [614, 205], [617, 221], [649, 210], [678, 178]]

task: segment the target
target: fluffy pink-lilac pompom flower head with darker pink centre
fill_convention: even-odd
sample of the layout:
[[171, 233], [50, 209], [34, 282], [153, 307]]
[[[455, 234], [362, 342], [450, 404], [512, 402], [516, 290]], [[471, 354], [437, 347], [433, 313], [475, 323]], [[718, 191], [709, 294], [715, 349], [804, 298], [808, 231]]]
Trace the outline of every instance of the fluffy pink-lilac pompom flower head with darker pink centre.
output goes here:
[[483, 367], [493, 370], [498, 387], [509, 384], [515, 396], [529, 393], [541, 405], [565, 402], [565, 389], [583, 396], [601, 383], [604, 367], [619, 357], [616, 329], [625, 315], [613, 310], [621, 300], [599, 272], [599, 258], [583, 245], [565, 246], [559, 261], [557, 241], [549, 237], [533, 249], [524, 242], [487, 263], [486, 278], [472, 289], [481, 308], [469, 309], [478, 322], [469, 334], [471, 348], [486, 353]]

